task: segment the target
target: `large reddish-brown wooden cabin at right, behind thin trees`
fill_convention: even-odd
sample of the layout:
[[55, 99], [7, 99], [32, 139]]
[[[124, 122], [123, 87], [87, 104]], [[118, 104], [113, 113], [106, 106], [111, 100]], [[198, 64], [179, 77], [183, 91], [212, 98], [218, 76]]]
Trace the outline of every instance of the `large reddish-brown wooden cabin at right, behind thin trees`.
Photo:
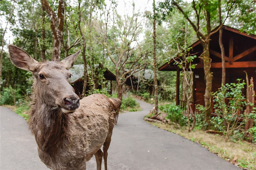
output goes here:
[[[214, 31], [214, 30], [213, 30]], [[219, 45], [219, 32], [212, 34], [210, 37], [210, 58], [212, 78], [212, 91], [215, 92], [221, 86], [221, 51]], [[256, 35], [248, 35], [240, 32], [237, 29], [223, 26], [222, 43], [225, 51], [226, 61], [226, 83], [236, 83], [237, 79], [245, 80], [245, 72], [249, 79], [252, 77], [254, 82], [254, 90], [256, 91]], [[196, 54], [193, 64], [196, 68], [193, 69], [193, 103], [204, 105], [204, 64], [202, 59], [198, 58], [203, 53], [203, 46], [200, 41], [196, 41], [190, 47], [190, 54]], [[180, 86], [180, 69], [177, 65], [173, 65], [174, 60], [162, 65], [159, 71], [177, 71], [176, 82], [176, 105], [180, 104], [179, 86]], [[246, 87], [243, 91], [246, 95]]]

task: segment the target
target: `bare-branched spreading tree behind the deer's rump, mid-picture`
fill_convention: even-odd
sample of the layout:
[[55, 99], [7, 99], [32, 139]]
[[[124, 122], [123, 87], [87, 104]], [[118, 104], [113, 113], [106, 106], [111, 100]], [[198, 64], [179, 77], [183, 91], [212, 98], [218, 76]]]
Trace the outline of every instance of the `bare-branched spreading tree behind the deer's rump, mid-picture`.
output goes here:
[[139, 21], [140, 13], [135, 12], [133, 4], [132, 16], [120, 16], [116, 8], [113, 8], [112, 46], [107, 45], [108, 56], [115, 66], [117, 97], [123, 96], [122, 87], [126, 81], [136, 72], [144, 69], [147, 63], [148, 52], [140, 50], [138, 42], [142, 30], [142, 21]]

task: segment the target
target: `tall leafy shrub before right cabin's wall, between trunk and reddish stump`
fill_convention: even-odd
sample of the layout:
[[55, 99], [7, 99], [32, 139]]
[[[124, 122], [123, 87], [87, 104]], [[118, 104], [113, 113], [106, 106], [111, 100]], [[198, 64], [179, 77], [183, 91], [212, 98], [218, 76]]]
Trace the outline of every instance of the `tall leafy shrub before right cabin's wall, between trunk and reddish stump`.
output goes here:
[[240, 83], [241, 79], [237, 79], [238, 83], [230, 83], [222, 85], [217, 92], [213, 93], [213, 108], [217, 117], [213, 117], [211, 123], [214, 128], [223, 132], [226, 135], [226, 140], [231, 137], [237, 139], [241, 137], [239, 128], [245, 124], [244, 119], [239, 122], [239, 117], [245, 117], [243, 114], [238, 114], [246, 105], [245, 98], [242, 93], [244, 88], [244, 81]]

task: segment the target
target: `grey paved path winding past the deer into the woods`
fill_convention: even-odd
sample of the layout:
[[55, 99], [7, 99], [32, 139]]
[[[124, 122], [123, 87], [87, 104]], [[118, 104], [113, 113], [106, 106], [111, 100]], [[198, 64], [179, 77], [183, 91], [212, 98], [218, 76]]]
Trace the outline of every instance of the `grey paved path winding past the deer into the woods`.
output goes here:
[[[109, 170], [240, 169], [200, 144], [144, 122], [143, 117], [152, 110], [152, 105], [138, 102], [142, 111], [122, 113], [118, 117], [108, 149]], [[1, 170], [47, 169], [38, 158], [36, 142], [26, 121], [3, 107], [0, 136]], [[96, 170], [95, 158], [87, 162], [87, 170]]]

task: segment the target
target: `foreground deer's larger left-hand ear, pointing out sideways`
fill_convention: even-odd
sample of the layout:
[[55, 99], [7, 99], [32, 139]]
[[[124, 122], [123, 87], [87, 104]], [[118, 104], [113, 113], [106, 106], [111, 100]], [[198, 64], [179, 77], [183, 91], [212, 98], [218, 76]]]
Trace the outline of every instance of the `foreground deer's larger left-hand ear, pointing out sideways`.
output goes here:
[[11, 44], [8, 45], [8, 49], [10, 59], [16, 67], [31, 72], [34, 72], [36, 70], [38, 62], [30, 55], [28, 55], [26, 51]]

